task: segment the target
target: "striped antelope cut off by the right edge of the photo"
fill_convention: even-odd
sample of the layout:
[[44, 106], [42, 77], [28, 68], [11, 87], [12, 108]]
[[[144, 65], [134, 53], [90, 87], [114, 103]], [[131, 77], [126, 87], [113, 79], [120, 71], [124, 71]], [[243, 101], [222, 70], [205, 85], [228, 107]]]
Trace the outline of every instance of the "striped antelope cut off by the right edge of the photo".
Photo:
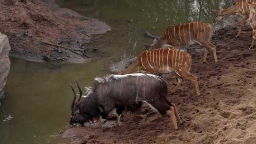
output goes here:
[[250, 45], [250, 48], [251, 49], [253, 46], [254, 46], [254, 41], [256, 39], [256, 3], [251, 3], [251, 2], [248, 2], [248, 5], [250, 7], [250, 15], [249, 15], [249, 21], [250, 21], [250, 25], [253, 29], [253, 39], [252, 39], [252, 42], [251, 42], [251, 45]]

